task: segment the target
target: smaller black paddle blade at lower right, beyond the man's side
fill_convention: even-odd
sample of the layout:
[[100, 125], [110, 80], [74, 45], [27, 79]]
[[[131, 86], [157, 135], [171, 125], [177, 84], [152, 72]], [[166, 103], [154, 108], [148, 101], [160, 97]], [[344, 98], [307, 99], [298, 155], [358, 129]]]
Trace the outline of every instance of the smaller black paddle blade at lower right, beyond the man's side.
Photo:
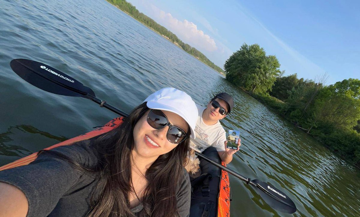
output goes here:
[[280, 212], [296, 212], [294, 202], [284, 192], [275, 188], [273, 185], [264, 183], [258, 179], [252, 180], [252, 182], [256, 183], [256, 187], [254, 186], [254, 188], [261, 195], [262, 199], [264, 199], [271, 207]]

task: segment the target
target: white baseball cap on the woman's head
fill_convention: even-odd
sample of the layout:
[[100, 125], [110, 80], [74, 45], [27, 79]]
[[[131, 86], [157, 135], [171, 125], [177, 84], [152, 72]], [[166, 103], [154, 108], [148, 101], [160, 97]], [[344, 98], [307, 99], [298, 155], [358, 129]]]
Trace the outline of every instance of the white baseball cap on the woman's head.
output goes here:
[[171, 111], [182, 117], [190, 126], [191, 137], [195, 139], [195, 125], [198, 108], [192, 98], [172, 87], [162, 88], [144, 100], [148, 108]]

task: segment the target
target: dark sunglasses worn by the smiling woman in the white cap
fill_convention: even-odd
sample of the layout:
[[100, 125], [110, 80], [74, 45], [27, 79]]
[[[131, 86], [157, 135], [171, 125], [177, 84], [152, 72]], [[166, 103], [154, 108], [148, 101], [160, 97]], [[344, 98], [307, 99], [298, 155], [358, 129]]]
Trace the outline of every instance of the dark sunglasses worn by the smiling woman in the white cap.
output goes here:
[[169, 126], [169, 129], [166, 134], [167, 140], [171, 143], [178, 144], [183, 142], [186, 138], [189, 137], [181, 128], [170, 124], [166, 115], [161, 110], [152, 109], [148, 114], [148, 124], [153, 128], [159, 130], [165, 126]]

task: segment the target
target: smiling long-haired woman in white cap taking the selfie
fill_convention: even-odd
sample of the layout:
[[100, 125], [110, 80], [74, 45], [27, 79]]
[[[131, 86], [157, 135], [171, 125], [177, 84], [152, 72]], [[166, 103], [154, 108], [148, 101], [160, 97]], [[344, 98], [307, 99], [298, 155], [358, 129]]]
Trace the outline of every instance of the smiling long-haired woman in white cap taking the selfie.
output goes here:
[[163, 88], [118, 128], [1, 171], [0, 217], [188, 216], [196, 120], [188, 94]]

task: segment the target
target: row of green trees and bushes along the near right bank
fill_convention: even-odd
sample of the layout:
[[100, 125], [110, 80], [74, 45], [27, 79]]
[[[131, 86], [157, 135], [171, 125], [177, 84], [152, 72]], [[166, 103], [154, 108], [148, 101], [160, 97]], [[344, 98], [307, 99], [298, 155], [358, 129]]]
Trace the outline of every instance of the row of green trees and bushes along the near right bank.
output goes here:
[[275, 55], [247, 45], [226, 60], [226, 79], [318, 139], [338, 156], [360, 166], [360, 80], [325, 86], [314, 80], [283, 76]]

